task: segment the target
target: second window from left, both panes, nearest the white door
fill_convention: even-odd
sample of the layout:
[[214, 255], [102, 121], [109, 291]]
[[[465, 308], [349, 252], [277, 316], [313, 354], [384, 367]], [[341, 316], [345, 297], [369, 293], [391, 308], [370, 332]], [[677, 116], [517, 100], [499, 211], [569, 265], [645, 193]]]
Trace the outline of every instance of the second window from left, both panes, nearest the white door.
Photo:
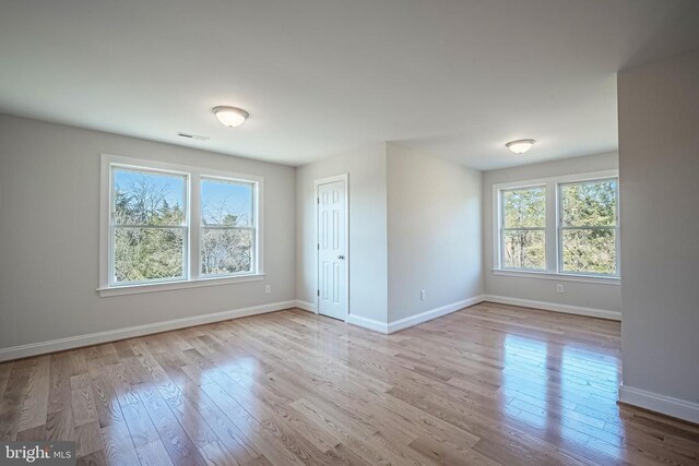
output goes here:
[[202, 178], [201, 276], [251, 273], [254, 240], [254, 183]]

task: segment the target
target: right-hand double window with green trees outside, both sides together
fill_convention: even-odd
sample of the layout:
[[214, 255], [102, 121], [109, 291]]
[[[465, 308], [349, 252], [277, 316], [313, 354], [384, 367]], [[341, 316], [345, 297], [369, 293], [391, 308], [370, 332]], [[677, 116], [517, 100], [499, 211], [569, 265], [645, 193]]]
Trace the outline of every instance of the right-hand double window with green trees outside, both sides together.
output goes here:
[[496, 273], [619, 276], [616, 171], [500, 184], [494, 200]]

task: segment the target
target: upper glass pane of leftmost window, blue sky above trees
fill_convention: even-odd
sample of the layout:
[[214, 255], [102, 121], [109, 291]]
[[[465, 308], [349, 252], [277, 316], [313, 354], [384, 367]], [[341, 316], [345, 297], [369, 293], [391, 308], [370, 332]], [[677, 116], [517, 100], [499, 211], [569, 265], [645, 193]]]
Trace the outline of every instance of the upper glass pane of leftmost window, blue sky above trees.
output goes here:
[[114, 222], [117, 225], [182, 225], [187, 178], [115, 168]]

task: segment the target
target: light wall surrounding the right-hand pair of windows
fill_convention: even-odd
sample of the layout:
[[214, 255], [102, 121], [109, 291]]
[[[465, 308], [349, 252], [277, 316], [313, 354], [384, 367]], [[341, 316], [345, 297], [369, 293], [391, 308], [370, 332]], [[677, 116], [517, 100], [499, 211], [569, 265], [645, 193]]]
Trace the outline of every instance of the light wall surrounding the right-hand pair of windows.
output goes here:
[[[483, 174], [483, 254], [485, 292], [487, 295], [543, 301], [603, 311], [619, 312], [621, 291], [617, 285], [600, 285], [577, 282], [556, 282], [542, 278], [523, 278], [494, 275], [493, 186], [510, 181], [525, 181], [561, 175], [576, 175], [618, 168], [616, 153], [566, 158], [542, 164], [485, 171]], [[626, 228], [621, 226], [621, 230]], [[623, 244], [624, 242], [621, 242]], [[621, 267], [621, 274], [624, 274]], [[564, 294], [556, 292], [556, 284], [564, 284]]]

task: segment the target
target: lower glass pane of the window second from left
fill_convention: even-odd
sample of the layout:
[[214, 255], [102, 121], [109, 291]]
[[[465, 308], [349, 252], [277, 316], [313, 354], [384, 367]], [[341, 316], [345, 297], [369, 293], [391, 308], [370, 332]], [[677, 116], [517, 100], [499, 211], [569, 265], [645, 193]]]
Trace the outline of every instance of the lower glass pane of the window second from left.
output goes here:
[[203, 228], [201, 238], [202, 275], [252, 272], [252, 230]]

